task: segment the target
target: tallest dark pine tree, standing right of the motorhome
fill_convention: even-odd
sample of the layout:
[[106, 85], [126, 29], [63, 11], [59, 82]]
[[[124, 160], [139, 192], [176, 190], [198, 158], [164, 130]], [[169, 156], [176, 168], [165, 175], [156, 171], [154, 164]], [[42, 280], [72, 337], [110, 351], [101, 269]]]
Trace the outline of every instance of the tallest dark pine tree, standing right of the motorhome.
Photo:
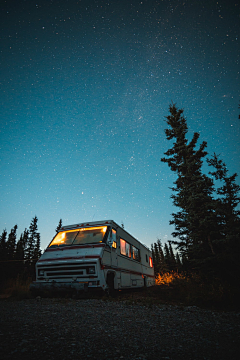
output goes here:
[[183, 110], [172, 104], [169, 111], [166, 122], [170, 129], [166, 129], [165, 134], [167, 140], [175, 142], [161, 161], [167, 163], [177, 175], [171, 198], [173, 204], [180, 209], [172, 214], [170, 224], [175, 225], [172, 235], [179, 239], [174, 243], [181, 255], [185, 255], [196, 266], [196, 260], [199, 262], [214, 255], [212, 240], [217, 231], [212, 197], [213, 181], [202, 173], [207, 143], [203, 141], [199, 149], [196, 149], [199, 133], [194, 133], [192, 140], [188, 142]]

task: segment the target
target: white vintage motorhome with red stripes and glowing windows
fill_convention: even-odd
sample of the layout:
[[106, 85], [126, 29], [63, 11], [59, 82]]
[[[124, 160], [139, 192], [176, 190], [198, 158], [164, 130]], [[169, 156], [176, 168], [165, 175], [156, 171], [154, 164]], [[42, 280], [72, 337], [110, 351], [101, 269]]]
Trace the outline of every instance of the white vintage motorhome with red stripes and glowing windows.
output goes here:
[[151, 251], [106, 220], [63, 226], [36, 263], [30, 288], [113, 291], [154, 284]]

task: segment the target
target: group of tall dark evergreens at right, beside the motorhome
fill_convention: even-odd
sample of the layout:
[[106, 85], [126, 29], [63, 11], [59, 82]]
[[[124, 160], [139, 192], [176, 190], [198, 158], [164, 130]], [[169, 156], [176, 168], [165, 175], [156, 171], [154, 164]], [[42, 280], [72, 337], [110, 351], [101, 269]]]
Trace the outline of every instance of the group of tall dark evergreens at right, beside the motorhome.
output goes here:
[[[237, 173], [228, 174], [220, 155], [214, 153], [206, 158], [207, 142], [197, 146], [198, 132], [188, 141], [183, 109], [170, 104], [169, 112], [165, 134], [173, 144], [161, 161], [176, 174], [171, 187], [171, 199], [178, 210], [170, 220], [175, 227], [172, 244], [176, 245], [184, 270], [207, 278], [239, 281], [240, 186], [236, 183]], [[204, 160], [209, 166], [207, 174], [203, 172]], [[153, 245], [155, 258], [156, 249], [157, 256], [161, 257], [160, 248], [159, 242]], [[158, 258], [155, 261], [158, 267]]]

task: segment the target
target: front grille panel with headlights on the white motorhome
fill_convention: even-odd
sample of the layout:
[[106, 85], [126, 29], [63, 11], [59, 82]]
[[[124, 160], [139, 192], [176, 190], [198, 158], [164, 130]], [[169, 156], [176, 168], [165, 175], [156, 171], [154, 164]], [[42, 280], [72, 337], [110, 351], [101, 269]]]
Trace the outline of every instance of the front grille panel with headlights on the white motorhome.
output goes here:
[[[81, 279], [91, 276], [97, 277], [96, 275], [96, 264], [54, 264], [54, 265], [38, 265], [37, 273], [40, 279], [50, 280], [67, 280], [67, 279]], [[94, 273], [89, 274], [89, 268], [95, 269]]]

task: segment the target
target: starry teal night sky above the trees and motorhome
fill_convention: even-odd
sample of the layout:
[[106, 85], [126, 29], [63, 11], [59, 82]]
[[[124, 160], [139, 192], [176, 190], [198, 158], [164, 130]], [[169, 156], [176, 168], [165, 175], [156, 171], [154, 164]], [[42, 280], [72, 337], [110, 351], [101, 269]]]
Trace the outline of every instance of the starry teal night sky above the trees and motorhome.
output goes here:
[[43, 249], [60, 218], [172, 239], [171, 101], [240, 174], [239, 14], [237, 0], [2, 0], [0, 231], [19, 238], [37, 215]]

